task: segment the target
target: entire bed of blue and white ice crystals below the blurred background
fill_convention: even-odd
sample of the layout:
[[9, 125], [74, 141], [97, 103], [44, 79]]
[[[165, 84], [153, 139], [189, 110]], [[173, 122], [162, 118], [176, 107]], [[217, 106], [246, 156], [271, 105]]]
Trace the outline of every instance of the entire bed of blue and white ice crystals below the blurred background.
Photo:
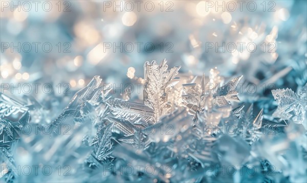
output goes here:
[[[95, 76], [45, 124], [31, 119], [42, 110], [36, 100], [17, 101], [1, 94], [0, 157], [6, 167], [1, 179], [63, 181], [60, 174], [20, 176], [14, 171], [40, 165], [68, 170], [64, 181], [306, 180], [306, 130], [300, 125], [306, 120], [306, 86], [297, 93], [273, 90], [278, 107], [270, 112], [240, 101], [237, 86], [243, 76], [224, 85], [226, 79], [215, 68], [209, 77], [203, 74], [200, 84], [194, 77], [182, 90], [177, 87], [182, 96], [174, 101], [178, 93], [170, 91], [179, 83], [179, 68], [168, 69], [165, 59], [159, 65], [146, 62], [143, 103], [108, 96], [112, 89], [101, 86], [102, 79]], [[20, 130], [28, 124], [36, 124], [38, 133]], [[65, 127], [69, 131], [63, 131]], [[236, 176], [230, 168], [256, 171]]]

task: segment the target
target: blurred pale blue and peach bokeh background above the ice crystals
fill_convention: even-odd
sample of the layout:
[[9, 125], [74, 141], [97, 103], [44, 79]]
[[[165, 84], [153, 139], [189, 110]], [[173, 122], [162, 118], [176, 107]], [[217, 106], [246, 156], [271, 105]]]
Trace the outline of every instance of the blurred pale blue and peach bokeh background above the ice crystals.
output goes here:
[[[226, 77], [244, 75], [248, 83], [296, 90], [307, 78], [306, 6], [306, 1], [2, 1], [2, 92], [69, 101], [95, 75], [118, 86], [140, 82], [145, 61], [164, 58], [188, 76], [217, 67]], [[38, 92], [35, 83], [41, 84]], [[44, 84], [52, 92], [41, 92]]]

